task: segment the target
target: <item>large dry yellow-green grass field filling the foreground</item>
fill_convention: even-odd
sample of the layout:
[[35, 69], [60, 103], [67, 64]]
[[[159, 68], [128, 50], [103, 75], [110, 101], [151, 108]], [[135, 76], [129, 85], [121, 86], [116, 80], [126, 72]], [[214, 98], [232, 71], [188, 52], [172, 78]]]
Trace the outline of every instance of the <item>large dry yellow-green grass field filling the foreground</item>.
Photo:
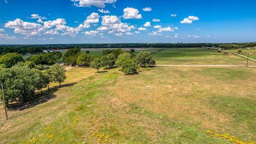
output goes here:
[[0, 109], [1, 144], [232, 144], [256, 141], [255, 68], [73, 68], [34, 102]]

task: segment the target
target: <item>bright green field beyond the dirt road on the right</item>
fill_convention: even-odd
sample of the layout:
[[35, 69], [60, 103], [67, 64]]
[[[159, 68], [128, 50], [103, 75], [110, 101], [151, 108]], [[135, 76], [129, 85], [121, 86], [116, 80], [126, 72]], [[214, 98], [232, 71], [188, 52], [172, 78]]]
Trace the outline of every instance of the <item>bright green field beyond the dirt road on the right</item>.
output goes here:
[[[167, 48], [153, 54], [157, 64], [234, 64], [245, 65], [246, 59], [203, 48]], [[254, 61], [249, 61], [255, 64]]]

